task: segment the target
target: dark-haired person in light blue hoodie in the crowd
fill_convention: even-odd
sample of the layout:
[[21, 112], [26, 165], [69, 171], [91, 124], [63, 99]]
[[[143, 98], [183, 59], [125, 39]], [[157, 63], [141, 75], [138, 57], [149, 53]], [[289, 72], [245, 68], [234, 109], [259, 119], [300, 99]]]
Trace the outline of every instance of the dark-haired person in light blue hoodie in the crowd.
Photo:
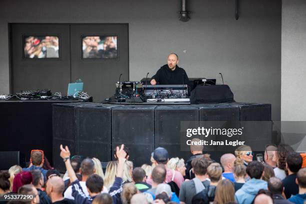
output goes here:
[[259, 161], [252, 161], [246, 167], [246, 173], [251, 178], [246, 181], [235, 193], [238, 203], [251, 203], [259, 189], [267, 189], [267, 182], [260, 179], [264, 166]]

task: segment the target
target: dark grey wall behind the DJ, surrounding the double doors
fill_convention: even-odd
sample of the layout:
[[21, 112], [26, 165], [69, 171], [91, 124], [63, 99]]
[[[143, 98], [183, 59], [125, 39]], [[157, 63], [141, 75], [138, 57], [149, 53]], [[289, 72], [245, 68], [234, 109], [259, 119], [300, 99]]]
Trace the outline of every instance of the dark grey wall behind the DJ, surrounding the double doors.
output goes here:
[[1, 0], [0, 92], [9, 91], [9, 22], [128, 23], [129, 78], [153, 75], [169, 52], [189, 77], [223, 73], [236, 101], [272, 104], [280, 119], [281, 0], [189, 0], [188, 22], [178, 20], [180, 0]]

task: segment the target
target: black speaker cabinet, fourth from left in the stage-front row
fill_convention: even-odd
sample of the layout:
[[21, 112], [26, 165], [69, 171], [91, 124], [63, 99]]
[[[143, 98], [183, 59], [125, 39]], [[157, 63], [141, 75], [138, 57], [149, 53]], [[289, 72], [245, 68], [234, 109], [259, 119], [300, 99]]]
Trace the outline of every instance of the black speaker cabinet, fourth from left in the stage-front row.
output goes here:
[[[182, 123], [181, 123], [182, 122]], [[181, 124], [183, 126], [181, 126]], [[162, 105], [155, 108], [155, 147], [164, 147], [169, 158], [190, 156], [186, 129], [198, 126], [198, 108], [191, 105]]]

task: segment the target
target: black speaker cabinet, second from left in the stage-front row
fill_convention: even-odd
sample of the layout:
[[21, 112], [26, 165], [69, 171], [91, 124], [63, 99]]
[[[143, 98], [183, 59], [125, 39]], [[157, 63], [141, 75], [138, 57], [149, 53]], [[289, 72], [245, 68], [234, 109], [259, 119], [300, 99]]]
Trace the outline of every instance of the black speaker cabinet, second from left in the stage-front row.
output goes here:
[[96, 103], [76, 108], [77, 154], [111, 160], [111, 108], [116, 106]]

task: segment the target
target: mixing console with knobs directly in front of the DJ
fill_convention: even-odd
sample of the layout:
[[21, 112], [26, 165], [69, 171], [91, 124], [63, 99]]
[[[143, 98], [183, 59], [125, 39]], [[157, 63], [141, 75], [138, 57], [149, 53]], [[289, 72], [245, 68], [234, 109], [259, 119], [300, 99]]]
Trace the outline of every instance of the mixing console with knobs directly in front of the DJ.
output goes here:
[[146, 98], [187, 98], [187, 85], [143, 85]]

